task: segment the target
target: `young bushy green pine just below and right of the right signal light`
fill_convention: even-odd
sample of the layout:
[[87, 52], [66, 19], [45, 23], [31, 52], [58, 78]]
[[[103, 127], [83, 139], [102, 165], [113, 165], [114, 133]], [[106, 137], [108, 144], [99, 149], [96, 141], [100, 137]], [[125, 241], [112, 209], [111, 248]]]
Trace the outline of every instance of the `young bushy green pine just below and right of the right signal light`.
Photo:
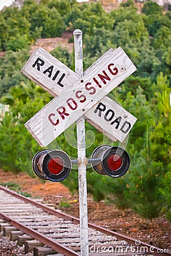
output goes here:
[[162, 208], [159, 193], [163, 165], [155, 162], [151, 152], [149, 128], [147, 127], [146, 148], [141, 150], [141, 156], [135, 160], [135, 166], [130, 172], [130, 189], [127, 199], [131, 208], [141, 217], [152, 220], [158, 217]]

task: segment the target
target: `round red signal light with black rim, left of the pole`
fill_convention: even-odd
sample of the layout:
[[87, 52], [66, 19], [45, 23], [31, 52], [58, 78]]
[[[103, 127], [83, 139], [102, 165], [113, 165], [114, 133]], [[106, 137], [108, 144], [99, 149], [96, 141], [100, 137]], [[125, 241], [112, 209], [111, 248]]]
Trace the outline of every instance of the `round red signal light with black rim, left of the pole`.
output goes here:
[[72, 163], [69, 156], [61, 150], [41, 150], [32, 160], [32, 169], [43, 180], [59, 182], [70, 174]]

